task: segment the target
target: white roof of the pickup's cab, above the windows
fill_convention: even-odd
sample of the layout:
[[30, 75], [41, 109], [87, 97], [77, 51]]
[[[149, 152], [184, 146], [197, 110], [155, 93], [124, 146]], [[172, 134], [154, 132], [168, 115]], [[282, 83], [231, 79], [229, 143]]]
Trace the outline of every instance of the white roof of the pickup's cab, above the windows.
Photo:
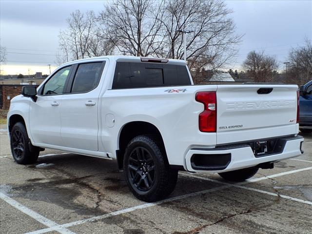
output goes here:
[[[112, 59], [115, 61], [120, 62], [141, 62], [141, 59], [162, 59], [162, 58], [155, 58], [155, 57], [136, 57], [136, 56], [125, 56], [125, 55], [109, 55], [109, 56], [99, 56], [99, 57], [92, 57], [92, 58], [86, 58], [86, 59], [77, 59], [70, 62], [66, 62], [64, 64], [72, 64], [77, 63], [81, 61], [96, 61], [99, 59]], [[168, 62], [163, 64], [175, 64], [175, 65], [186, 65], [184, 60], [181, 59], [166, 59]], [[64, 65], [62, 64], [62, 65]]]

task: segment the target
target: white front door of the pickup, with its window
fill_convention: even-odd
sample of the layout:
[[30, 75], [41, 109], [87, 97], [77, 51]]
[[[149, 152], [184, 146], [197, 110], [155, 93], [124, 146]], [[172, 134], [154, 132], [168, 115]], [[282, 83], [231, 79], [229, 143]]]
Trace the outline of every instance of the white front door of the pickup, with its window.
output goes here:
[[57, 71], [40, 88], [37, 101], [31, 101], [29, 124], [35, 143], [63, 145], [60, 137], [60, 108], [70, 71], [71, 66]]

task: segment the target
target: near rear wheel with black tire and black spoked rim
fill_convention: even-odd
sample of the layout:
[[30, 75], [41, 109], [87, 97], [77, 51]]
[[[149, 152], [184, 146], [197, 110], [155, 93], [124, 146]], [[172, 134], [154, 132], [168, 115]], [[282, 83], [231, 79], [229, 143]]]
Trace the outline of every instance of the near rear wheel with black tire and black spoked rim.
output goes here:
[[123, 163], [128, 186], [138, 199], [153, 202], [174, 191], [178, 171], [170, 168], [157, 138], [134, 137], [126, 148]]

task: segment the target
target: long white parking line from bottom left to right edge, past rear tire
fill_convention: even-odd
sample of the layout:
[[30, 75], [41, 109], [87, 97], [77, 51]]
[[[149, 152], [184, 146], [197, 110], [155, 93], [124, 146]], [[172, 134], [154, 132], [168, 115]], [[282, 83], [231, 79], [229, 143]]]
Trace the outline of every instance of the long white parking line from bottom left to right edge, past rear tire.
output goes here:
[[[289, 172], [278, 173], [278, 174], [274, 174], [274, 175], [271, 175], [271, 176], [264, 176], [264, 177], [260, 177], [260, 178], [254, 178], [254, 179], [250, 179], [250, 180], [238, 183], [236, 185], [246, 184], [246, 183], [253, 183], [253, 182], [256, 182], [256, 181], [260, 181], [260, 180], [265, 180], [265, 179], [274, 178], [274, 177], [278, 177], [278, 176], [289, 175], [289, 174], [302, 172], [302, 171], [306, 171], [306, 170], [311, 170], [311, 169], [312, 169], [312, 167], [307, 167], [307, 168], [302, 168], [302, 169], [298, 169], [298, 170], [292, 170], [292, 171], [289, 171]], [[203, 177], [200, 177], [200, 178], [203, 179]], [[218, 182], [221, 182], [221, 181], [218, 181]], [[116, 216], [116, 215], [129, 213], [129, 212], [132, 212], [132, 211], [144, 209], [144, 208], [147, 208], [147, 207], [160, 205], [160, 204], [163, 204], [163, 203], [166, 203], [166, 202], [170, 202], [170, 201], [176, 201], [176, 200], [179, 200], [179, 199], [188, 198], [188, 197], [195, 196], [195, 195], [202, 195], [202, 194], [215, 192], [215, 191], [218, 191], [218, 190], [223, 190], [223, 189], [226, 189], [226, 188], [233, 187], [234, 185], [235, 184], [228, 184], [228, 183], [226, 183], [225, 185], [217, 187], [217, 188], [208, 189], [208, 190], [204, 190], [204, 191], [199, 191], [199, 192], [186, 194], [186, 195], [175, 196], [175, 197], [167, 198], [167, 199], [164, 199], [164, 200], [161, 200], [161, 201], [157, 201], [157, 202], [153, 202], [153, 203], [145, 203], [143, 205], [130, 207], [130, 208], [127, 208], [127, 209], [124, 209], [124, 210], [120, 210], [120, 211], [116, 211], [116, 212], [112, 212], [112, 213], [109, 213], [109, 214], [99, 215], [99, 216], [95, 216], [95, 217], [92, 217], [92, 218], [87, 218], [87, 219], [82, 219], [82, 220], [78, 220], [78, 221], [71, 222], [71, 223], [62, 224], [62, 225], [59, 225], [58, 227], [68, 228], [68, 227], [76, 226], [76, 225], [83, 224], [83, 223], [86, 223], [86, 222], [92, 222], [92, 221], [96, 221], [96, 220], [99, 220], [99, 219], [108, 218], [108, 217], [112, 217], [112, 216]], [[284, 198], [286, 198], [286, 197], [287, 196], [284, 196]], [[293, 198], [293, 199], [297, 199], [297, 198]], [[51, 231], [54, 231], [54, 230], [55, 230], [55, 227], [51, 227], [51, 228], [45, 228], [45, 229], [37, 230], [37, 231], [34, 231], [34, 232], [30, 232], [30, 233], [27, 233], [27, 234], [42, 234], [42, 233], [47, 233], [47, 232], [51, 232]]]

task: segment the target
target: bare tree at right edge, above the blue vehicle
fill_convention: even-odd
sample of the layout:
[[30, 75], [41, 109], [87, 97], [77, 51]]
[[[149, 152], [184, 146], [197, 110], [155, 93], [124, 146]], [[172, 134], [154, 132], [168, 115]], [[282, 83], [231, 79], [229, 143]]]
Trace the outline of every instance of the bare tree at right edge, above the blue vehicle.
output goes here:
[[304, 84], [312, 79], [312, 44], [306, 39], [305, 45], [292, 48], [289, 53], [290, 69], [288, 81]]

